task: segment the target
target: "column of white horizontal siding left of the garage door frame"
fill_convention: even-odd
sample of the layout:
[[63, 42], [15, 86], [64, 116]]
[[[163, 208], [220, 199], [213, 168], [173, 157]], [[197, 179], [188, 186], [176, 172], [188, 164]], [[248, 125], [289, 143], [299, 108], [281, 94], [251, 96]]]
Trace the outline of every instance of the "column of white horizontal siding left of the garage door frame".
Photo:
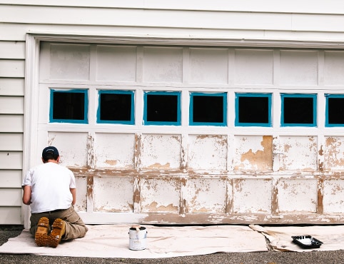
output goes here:
[[0, 40], [0, 224], [23, 223], [24, 59], [24, 41]]

